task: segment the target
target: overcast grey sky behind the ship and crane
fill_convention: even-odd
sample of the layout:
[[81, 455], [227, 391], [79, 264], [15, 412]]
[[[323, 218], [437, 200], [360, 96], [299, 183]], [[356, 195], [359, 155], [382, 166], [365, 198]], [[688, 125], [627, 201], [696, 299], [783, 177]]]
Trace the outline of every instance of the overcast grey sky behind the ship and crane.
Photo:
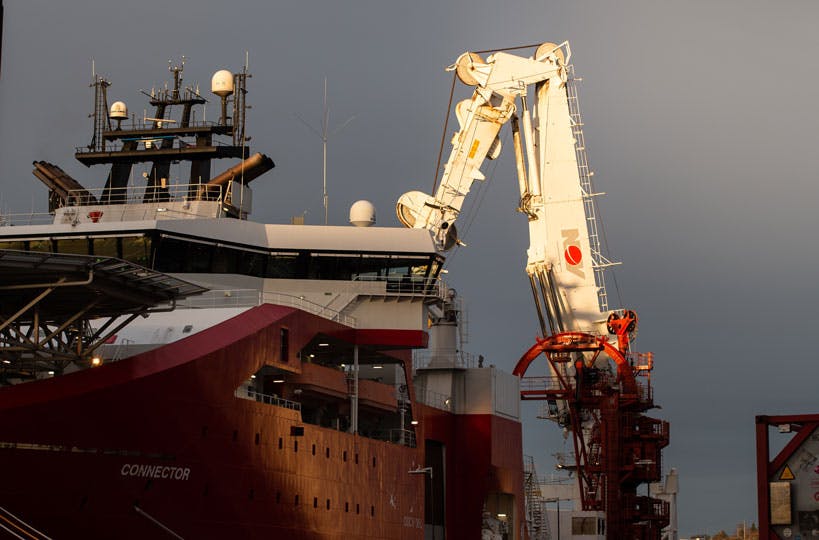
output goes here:
[[[104, 170], [73, 159], [91, 136], [92, 58], [113, 82], [110, 101], [140, 115], [137, 90], [168, 80], [169, 59], [186, 55], [186, 82], [207, 89], [213, 71], [239, 69], [247, 50], [251, 145], [277, 165], [253, 184], [253, 218], [307, 211], [308, 223], [322, 221], [320, 140], [296, 115], [320, 125], [327, 77], [331, 128], [355, 116], [330, 141], [330, 221], [345, 223], [349, 205], [368, 198], [380, 225], [397, 225], [398, 196], [432, 185], [444, 68], [465, 50], [569, 40], [611, 255], [624, 263], [617, 281], [641, 316], [637, 348], [656, 355], [680, 533], [757, 521], [754, 415], [819, 407], [819, 2], [4, 4], [6, 212], [46, 208], [33, 160], [102, 184]], [[450, 278], [470, 308], [470, 349], [511, 370], [537, 333], [527, 228], [511, 153], [488, 165]], [[547, 472], [561, 439], [526, 409], [526, 452]]]

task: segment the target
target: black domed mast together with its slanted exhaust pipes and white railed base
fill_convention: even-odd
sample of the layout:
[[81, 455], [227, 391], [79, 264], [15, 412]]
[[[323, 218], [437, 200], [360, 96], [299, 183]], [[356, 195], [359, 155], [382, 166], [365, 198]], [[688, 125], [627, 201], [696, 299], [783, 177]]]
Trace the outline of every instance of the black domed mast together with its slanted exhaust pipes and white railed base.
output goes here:
[[[198, 85], [195, 88], [183, 85], [184, 66], [184, 56], [177, 65], [168, 62], [168, 71], [173, 77], [171, 88], [166, 84], [164, 89], [141, 91], [153, 107], [153, 116], [148, 116], [146, 111], [141, 119], [133, 114], [129, 117], [122, 101], [115, 101], [109, 108], [112, 84], [94, 70], [91, 142], [79, 148], [75, 157], [87, 167], [109, 165], [108, 179], [103, 189], [92, 193], [96, 190], [86, 190], [59, 167], [35, 162], [34, 175], [50, 190], [50, 211], [64, 206], [124, 205], [115, 212], [101, 208], [75, 209], [66, 218], [87, 218], [95, 223], [137, 215], [145, 219], [156, 212], [164, 213], [165, 219], [171, 215], [247, 217], [252, 204], [252, 192], [247, 184], [274, 167], [269, 157], [260, 153], [250, 155], [246, 145], [250, 140], [245, 134], [246, 81], [250, 77], [247, 65], [236, 75], [228, 70], [213, 75], [211, 91], [222, 101], [222, 116], [218, 122], [205, 121], [204, 114], [202, 120], [197, 119], [196, 108], [204, 108], [208, 100], [199, 93]], [[242, 161], [212, 179], [211, 160], [223, 158]], [[142, 186], [131, 183], [132, 169], [139, 163], [151, 163], [149, 171], [142, 173], [146, 181]], [[189, 179], [171, 185], [171, 165], [178, 163], [189, 164]], [[151, 207], [126, 208], [136, 204]]]

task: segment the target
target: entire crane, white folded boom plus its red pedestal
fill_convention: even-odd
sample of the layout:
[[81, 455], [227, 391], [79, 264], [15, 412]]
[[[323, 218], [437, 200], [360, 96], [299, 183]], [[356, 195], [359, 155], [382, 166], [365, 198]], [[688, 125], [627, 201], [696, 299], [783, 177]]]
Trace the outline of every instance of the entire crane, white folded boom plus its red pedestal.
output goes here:
[[[659, 539], [668, 508], [637, 496], [637, 486], [660, 479], [668, 423], [643, 414], [654, 407], [650, 379], [637, 377], [648, 376], [653, 357], [629, 350], [636, 313], [608, 309], [602, 269], [611, 263], [600, 254], [591, 173], [567, 84], [570, 58], [567, 42], [544, 43], [531, 57], [458, 57], [449, 70], [475, 90], [456, 105], [460, 129], [440, 183], [433, 195], [402, 195], [396, 213], [405, 226], [430, 230], [439, 249], [460, 244], [464, 201], [473, 182], [485, 179], [483, 162], [500, 154], [502, 126], [511, 124], [518, 210], [529, 222], [526, 273], [543, 335], [514, 370], [521, 398], [546, 400], [552, 417], [571, 429], [582, 507], [605, 511], [606, 537]], [[540, 355], [550, 375], [524, 377]]]

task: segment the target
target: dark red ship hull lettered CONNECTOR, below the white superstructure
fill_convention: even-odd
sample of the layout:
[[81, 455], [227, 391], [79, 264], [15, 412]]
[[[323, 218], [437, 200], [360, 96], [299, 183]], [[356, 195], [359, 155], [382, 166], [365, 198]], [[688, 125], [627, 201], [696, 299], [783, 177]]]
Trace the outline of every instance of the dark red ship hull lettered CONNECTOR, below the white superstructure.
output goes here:
[[[2, 388], [0, 507], [53, 538], [123, 539], [421, 539], [441, 507], [443, 519], [433, 519], [446, 537], [472, 539], [487, 494], [503, 492], [514, 497], [521, 531], [518, 422], [415, 405], [413, 448], [238, 398], [265, 364], [301, 373], [298, 360], [270, 360], [283, 326], [294, 351], [318, 334], [382, 348], [425, 344], [423, 332], [357, 334], [263, 305], [126, 360]], [[437, 503], [426, 500], [429, 480], [409, 474], [430, 463], [430, 441], [446, 448]]]

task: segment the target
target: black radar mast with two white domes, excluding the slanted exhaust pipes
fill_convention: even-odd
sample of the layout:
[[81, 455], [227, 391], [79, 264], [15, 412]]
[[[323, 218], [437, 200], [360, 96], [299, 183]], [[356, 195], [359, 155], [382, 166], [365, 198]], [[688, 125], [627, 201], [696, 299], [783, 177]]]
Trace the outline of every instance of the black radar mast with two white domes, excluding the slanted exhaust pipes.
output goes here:
[[[123, 120], [128, 118], [125, 104], [114, 103], [109, 114], [107, 96], [111, 83], [95, 75], [92, 83], [95, 93], [94, 134], [91, 144], [78, 151], [75, 157], [86, 166], [111, 166], [103, 203], [125, 202], [131, 170], [137, 163], [151, 163], [150, 172], [143, 173], [147, 187], [142, 202], [148, 203], [169, 199], [173, 163], [190, 163], [188, 197], [192, 199], [202, 194], [201, 186], [210, 184], [212, 159], [248, 157], [250, 149], [245, 144], [248, 137], [244, 129], [246, 80], [249, 77], [246, 68], [236, 75], [227, 70], [214, 75], [213, 91], [222, 99], [223, 114], [218, 123], [213, 123], [196, 120], [196, 107], [204, 106], [208, 100], [199, 93], [198, 87], [183, 86], [184, 67], [184, 56], [179, 64], [168, 62], [168, 71], [173, 76], [172, 88], [166, 85], [164, 89], [152, 89], [150, 93], [142, 91], [153, 107], [153, 116], [145, 115], [141, 122], [132, 116], [125, 127]], [[227, 116], [229, 101], [232, 101], [231, 116]], [[117, 120], [116, 128], [112, 128], [111, 118]], [[218, 137], [227, 140], [217, 142]], [[263, 160], [263, 164], [266, 168], [261, 172], [257, 170], [256, 176], [273, 166], [269, 158]], [[231, 180], [244, 182], [241, 176], [231, 176]], [[241, 209], [238, 213], [242, 213]]]

